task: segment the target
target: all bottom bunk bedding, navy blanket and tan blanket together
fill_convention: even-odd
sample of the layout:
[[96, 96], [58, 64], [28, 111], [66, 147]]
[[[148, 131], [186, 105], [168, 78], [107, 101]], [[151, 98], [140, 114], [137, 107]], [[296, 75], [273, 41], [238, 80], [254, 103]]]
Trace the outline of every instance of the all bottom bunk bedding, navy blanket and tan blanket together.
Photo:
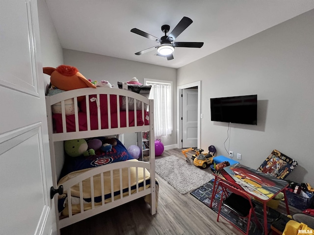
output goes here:
[[[102, 142], [108, 141], [105, 137], [98, 137], [96, 139]], [[113, 139], [110, 138], [110, 141], [112, 140]], [[69, 201], [71, 201], [72, 214], [77, 214], [81, 209], [84, 211], [92, 209], [93, 204], [95, 207], [103, 205], [103, 200], [105, 203], [112, 202], [112, 195], [114, 200], [116, 200], [121, 198], [121, 192], [122, 197], [125, 197], [130, 195], [129, 191], [133, 194], [145, 188], [150, 188], [150, 172], [143, 167], [130, 167], [130, 162], [138, 162], [138, 160], [132, 158], [121, 141], [115, 138], [114, 140], [116, 141], [116, 145], [113, 146], [110, 151], [103, 152], [99, 149], [95, 151], [95, 155], [92, 156], [70, 157], [66, 155], [58, 186], [86, 172], [88, 176], [81, 179], [81, 183], [76, 183], [76, 185], [72, 186], [70, 193], [67, 193], [65, 188], [64, 193], [59, 195], [58, 210], [61, 213], [61, 217], [69, 216]], [[86, 141], [88, 142], [90, 140]], [[120, 168], [107, 170], [105, 166], [118, 162], [123, 163], [123, 167], [120, 167], [121, 177]], [[102, 170], [104, 170], [104, 172], [101, 171], [102, 173], [97, 172], [97, 174], [93, 174], [92, 170], [95, 169], [95, 167], [99, 168], [103, 166], [104, 168]], [[92, 183], [91, 176], [93, 177]], [[120, 183], [122, 183], [122, 186]], [[70, 200], [68, 194], [71, 194]], [[150, 194], [145, 196], [145, 200], [150, 202], [150, 197]], [[158, 182], [156, 181], [156, 205], [157, 201]]]

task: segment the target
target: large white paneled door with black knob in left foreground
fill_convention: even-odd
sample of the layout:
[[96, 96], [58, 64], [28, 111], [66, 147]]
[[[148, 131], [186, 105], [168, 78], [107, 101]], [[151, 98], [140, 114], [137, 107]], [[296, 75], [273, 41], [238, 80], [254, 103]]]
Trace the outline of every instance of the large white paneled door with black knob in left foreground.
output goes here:
[[0, 0], [0, 234], [56, 234], [36, 0]]

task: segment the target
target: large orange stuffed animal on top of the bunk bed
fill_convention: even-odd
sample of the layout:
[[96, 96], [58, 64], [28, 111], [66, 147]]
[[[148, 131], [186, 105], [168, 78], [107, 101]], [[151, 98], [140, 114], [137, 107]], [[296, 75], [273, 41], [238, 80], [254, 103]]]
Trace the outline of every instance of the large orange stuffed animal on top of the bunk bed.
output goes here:
[[96, 86], [88, 81], [76, 67], [60, 65], [56, 69], [52, 67], [44, 67], [43, 71], [51, 76], [51, 85], [63, 91], [85, 87], [96, 88]]

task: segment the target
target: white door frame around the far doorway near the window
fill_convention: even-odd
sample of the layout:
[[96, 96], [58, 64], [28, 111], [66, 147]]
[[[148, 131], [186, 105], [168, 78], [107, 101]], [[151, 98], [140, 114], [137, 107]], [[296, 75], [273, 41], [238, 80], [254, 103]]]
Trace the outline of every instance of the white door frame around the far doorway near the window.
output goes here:
[[196, 81], [181, 85], [177, 87], [177, 127], [178, 127], [178, 136], [177, 136], [177, 146], [182, 148], [182, 90], [186, 88], [197, 87], [197, 147], [200, 148], [201, 144], [201, 81]]

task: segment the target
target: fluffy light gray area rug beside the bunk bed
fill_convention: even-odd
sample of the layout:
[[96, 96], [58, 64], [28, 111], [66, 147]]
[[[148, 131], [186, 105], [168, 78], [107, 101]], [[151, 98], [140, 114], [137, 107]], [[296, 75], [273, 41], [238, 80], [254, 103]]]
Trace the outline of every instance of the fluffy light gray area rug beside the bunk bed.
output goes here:
[[176, 156], [157, 158], [155, 171], [181, 194], [191, 192], [214, 178], [206, 170]]

